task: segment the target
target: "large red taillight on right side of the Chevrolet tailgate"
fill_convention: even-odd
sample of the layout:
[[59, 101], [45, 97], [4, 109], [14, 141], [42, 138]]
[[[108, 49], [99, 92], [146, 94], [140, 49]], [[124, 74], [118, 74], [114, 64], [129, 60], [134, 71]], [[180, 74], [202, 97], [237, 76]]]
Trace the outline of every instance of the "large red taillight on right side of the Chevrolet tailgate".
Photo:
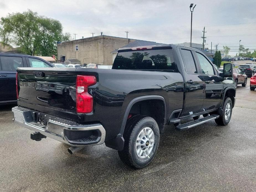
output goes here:
[[93, 97], [88, 93], [88, 87], [96, 84], [96, 77], [77, 75], [76, 77], [76, 112], [90, 113], [93, 108]]

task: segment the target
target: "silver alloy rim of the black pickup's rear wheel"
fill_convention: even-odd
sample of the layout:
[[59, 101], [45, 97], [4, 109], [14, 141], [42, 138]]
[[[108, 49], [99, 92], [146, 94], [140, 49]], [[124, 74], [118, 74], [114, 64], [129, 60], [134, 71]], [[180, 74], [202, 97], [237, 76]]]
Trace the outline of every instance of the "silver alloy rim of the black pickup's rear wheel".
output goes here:
[[139, 158], [150, 158], [149, 155], [154, 147], [154, 141], [155, 136], [151, 128], [145, 127], [139, 132], [135, 146], [136, 154]]

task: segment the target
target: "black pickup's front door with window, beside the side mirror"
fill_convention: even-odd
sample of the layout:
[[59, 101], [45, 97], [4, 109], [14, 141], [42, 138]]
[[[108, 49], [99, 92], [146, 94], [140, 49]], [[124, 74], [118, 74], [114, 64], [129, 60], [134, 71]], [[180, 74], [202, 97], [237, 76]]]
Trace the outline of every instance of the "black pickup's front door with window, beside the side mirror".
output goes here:
[[216, 109], [221, 106], [223, 94], [223, 80], [219, 78], [218, 72], [213, 64], [203, 54], [196, 51], [196, 58], [200, 67], [198, 76], [205, 82], [205, 94], [203, 101], [203, 111]]

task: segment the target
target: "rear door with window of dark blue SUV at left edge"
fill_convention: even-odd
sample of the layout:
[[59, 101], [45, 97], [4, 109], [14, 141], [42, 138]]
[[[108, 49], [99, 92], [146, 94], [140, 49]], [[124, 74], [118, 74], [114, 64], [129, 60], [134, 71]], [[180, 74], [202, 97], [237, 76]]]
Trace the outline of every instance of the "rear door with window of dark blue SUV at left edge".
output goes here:
[[0, 66], [0, 101], [16, 100], [16, 69], [24, 67], [24, 61], [19, 56], [0, 56]]

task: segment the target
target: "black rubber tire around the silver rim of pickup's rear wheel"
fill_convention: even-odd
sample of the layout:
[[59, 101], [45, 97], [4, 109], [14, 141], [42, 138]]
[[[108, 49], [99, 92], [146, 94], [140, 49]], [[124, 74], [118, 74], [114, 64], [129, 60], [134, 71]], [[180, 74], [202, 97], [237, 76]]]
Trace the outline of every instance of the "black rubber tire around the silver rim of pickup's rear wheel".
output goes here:
[[[154, 145], [149, 156], [140, 158], [136, 153], [136, 140], [138, 134], [145, 127], [152, 129], [154, 133]], [[152, 117], [136, 115], [128, 119], [123, 137], [125, 140], [124, 148], [122, 151], [118, 151], [118, 155], [123, 163], [138, 169], [146, 167], [154, 159], [159, 145], [159, 128]]]

